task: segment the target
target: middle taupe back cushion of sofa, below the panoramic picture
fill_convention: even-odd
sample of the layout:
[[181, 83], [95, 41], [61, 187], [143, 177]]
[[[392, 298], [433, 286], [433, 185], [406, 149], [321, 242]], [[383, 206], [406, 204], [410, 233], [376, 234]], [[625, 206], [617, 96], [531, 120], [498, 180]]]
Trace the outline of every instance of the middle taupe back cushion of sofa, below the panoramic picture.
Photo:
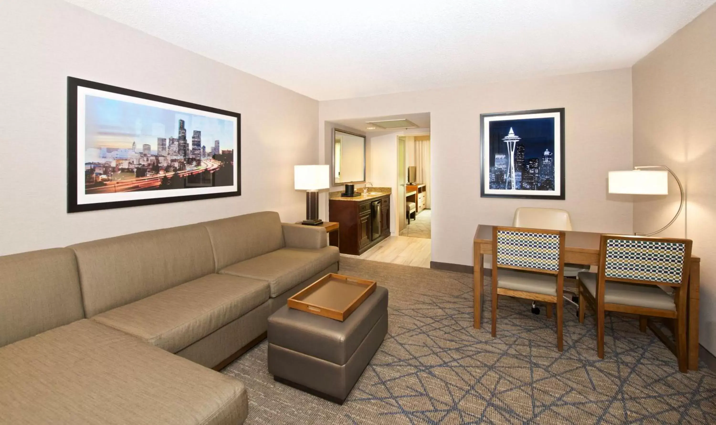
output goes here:
[[87, 317], [214, 273], [204, 226], [173, 227], [69, 246]]

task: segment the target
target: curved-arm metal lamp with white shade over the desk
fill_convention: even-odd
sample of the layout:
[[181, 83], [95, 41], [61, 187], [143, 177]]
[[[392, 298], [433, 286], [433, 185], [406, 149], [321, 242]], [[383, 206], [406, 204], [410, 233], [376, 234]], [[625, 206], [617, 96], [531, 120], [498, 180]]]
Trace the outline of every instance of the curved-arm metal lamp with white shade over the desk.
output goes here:
[[[660, 170], [644, 171], [647, 169]], [[684, 201], [686, 201], [684, 186], [682, 186], [681, 181], [676, 174], [674, 174], [674, 171], [664, 165], [635, 166], [633, 170], [628, 171], [609, 171], [610, 194], [667, 195], [669, 194], [669, 174], [674, 176], [677, 184], [679, 184], [679, 191], [681, 191], [679, 211], [676, 211], [674, 218], [661, 229], [652, 231], [652, 233], [637, 235], [652, 236], [664, 231], [676, 221], [679, 214], [681, 214], [681, 210], [684, 209]]]

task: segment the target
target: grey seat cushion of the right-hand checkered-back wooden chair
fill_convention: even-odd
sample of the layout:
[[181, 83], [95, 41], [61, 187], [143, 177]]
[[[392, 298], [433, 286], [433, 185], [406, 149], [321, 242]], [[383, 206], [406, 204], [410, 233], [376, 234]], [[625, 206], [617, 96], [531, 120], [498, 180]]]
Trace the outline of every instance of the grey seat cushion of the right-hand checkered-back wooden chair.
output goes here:
[[[579, 281], [584, 284], [587, 291], [594, 297], [596, 297], [596, 279], [596, 273], [582, 272], [579, 274]], [[676, 311], [674, 298], [664, 292], [663, 289], [653, 285], [606, 281], [604, 302], [607, 304]]]

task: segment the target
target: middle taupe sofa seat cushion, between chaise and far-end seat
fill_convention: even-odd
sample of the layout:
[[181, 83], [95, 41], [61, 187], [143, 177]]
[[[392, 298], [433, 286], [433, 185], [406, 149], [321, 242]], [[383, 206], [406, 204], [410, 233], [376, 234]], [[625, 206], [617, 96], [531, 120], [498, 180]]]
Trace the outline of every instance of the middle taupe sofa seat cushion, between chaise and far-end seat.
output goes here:
[[175, 353], [269, 299], [269, 284], [209, 274], [92, 317]]

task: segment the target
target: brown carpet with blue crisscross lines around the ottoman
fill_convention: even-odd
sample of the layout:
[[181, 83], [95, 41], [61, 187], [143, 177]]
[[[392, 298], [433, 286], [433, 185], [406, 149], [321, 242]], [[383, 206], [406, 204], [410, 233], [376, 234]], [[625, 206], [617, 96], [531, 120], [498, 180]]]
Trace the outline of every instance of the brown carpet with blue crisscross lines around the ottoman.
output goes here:
[[[473, 329], [473, 276], [342, 258], [390, 291], [388, 335], [343, 406], [276, 383], [266, 341], [223, 370], [248, 388], [247, 424], [715, 424], [716, 374], [681, 374], [637, 320], [608, 315], [604, 360], [591, 314], [556, 326], [500, 297], [498, 336]], [[489, 284], [489, 279], [486, 279]], [[489, 294], [489, 289], [488, 289]], [[489, 295], [488, 295], [489, 296]]]

